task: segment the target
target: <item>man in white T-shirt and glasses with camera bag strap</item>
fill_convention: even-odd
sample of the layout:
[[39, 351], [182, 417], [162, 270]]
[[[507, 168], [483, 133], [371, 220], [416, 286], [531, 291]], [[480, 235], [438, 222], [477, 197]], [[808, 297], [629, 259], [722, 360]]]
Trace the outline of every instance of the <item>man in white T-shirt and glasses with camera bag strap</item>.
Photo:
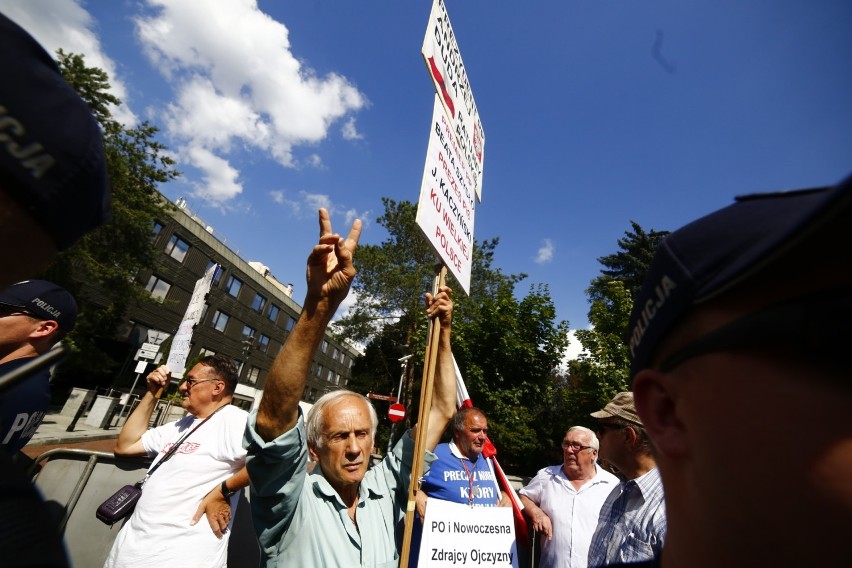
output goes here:
[[[149, 430], [169, 379], [166, 366], [148, 375], [148, 390], [121, 428], [115, 454], [156, 456], [154, 466], [174, 444], [180, 446], [145, 481], [105, 568], [227, 564], [232, 511], [249, 482], [242, 445], [248, 413], [231, 404], [237, 368], [222, 355], [201, 359], [179, 387], [189, 414]], [[206, 523], [199, 522], [203, 516]]]

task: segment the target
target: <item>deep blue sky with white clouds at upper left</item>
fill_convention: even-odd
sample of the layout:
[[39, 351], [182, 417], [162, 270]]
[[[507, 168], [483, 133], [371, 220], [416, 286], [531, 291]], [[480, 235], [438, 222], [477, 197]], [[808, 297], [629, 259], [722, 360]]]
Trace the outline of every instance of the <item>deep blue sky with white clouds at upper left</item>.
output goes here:
[[[430, 0], [0, 0], [49, 51], [109, 71], [162, 129], [215, 234], [304, 294], [316, 208], [385, 237], [416, 202], [433, 87]], [[485, 130], [477, 240], [519, 287], [584, 290], [629, 221], [674, 229], [737, 194], [852, 173], [848, 0], [447, 0]], [[356, 257], [357, 262], [357, 257]]]

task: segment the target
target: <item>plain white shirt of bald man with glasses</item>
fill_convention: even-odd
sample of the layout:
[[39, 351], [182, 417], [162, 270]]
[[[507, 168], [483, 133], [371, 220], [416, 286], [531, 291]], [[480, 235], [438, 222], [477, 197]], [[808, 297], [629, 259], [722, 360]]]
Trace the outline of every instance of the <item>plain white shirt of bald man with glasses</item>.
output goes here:
[[597, 473], [574, 489], [562, 465], [546, 467], [521, 489], [550, 517], [553, 539], [542, 535], [540, 568], [586, 568], [589, 544], [598, 523], [598, 514], [618, 478], [595, 466]]

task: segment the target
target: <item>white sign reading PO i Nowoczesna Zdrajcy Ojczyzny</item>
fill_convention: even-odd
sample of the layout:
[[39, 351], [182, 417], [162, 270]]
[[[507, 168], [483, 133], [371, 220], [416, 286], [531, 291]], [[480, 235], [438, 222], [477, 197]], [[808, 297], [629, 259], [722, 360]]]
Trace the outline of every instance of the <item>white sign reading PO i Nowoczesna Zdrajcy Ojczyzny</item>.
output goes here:
[[470, 507], [429, 499], [418, 568], [518, 567], [511, 507]]

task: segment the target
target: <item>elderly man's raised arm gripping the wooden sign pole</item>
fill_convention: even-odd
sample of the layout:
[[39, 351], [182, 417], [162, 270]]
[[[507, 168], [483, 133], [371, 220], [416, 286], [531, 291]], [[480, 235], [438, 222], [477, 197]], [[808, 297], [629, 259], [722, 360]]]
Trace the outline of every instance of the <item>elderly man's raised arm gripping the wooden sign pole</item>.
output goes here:
[[435, 382], [432, 407], [429, 409], [429, 427], [424, 447], [430, 452], [441, 441], [441, 434], [456, 413], [456, 368], [450, 341], [453, 321], [453, 291], [442, 286], [435, 296], [426, 294], [426, 315], [440, 325], [438, 332], [438, 361], [435, 365]]

